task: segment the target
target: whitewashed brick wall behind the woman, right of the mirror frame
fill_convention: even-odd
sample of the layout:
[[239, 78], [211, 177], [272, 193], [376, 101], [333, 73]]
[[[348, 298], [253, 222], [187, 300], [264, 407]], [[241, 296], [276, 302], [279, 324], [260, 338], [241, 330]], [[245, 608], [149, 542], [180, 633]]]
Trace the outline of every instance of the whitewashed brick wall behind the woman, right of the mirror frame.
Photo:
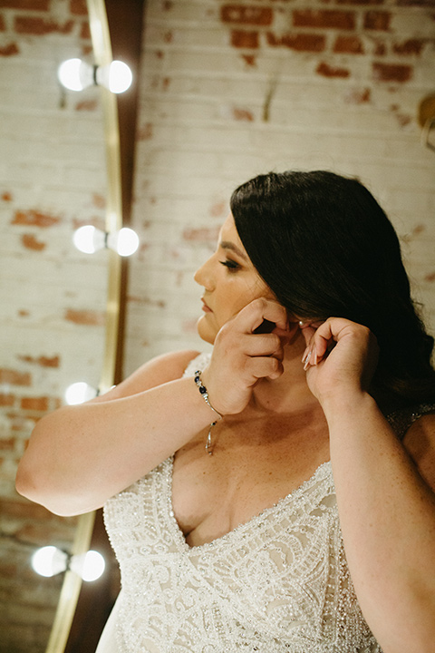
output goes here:
[[195, 269], [239, 182], [271, 169], [359, 176], [398, 229], [435, 330], [435, 13], [410, 0], [150, 0], [126, 371], [201, 347]]

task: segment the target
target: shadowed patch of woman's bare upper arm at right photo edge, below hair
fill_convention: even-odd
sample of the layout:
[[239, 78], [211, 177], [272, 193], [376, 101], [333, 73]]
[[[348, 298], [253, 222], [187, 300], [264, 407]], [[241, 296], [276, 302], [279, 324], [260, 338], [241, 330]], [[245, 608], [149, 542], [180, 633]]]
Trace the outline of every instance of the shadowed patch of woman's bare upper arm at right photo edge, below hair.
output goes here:
[[435, 491], [435, 413], [425, 414], [408, 429], [403, 445], [423, 479]]

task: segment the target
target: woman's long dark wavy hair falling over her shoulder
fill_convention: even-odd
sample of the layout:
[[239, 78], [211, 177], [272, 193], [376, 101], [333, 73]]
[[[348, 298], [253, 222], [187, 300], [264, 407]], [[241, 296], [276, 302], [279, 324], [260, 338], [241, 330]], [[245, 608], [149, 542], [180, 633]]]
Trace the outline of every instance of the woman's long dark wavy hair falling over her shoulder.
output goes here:
[[369, 327], [388, 404], [435, 401], [433, 338], [411, 300], [396, 232], [360, 181], [329, 171], [270, 172], [234, 191], [237, 232], [278, 301], [299, 317]]

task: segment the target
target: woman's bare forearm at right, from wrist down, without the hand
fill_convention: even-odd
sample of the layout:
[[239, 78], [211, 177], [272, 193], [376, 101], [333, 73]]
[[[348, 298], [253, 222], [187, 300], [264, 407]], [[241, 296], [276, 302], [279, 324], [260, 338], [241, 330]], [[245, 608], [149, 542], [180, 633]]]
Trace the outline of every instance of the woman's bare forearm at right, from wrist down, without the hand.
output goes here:
[[385, 653], [426, 653], [435, 641], [433, 492], [370, 395], [330, 397], [323, 407], [344, 547], [364, 617]]

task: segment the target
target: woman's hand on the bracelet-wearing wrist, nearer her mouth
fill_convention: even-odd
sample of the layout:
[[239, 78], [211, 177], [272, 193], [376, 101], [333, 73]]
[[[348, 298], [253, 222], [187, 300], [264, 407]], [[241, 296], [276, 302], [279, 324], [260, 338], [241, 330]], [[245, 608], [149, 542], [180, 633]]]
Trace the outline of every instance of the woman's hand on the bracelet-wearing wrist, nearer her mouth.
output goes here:
[[[273, 323], [271, 332], [255, 333], [264, 330], [265, 320]], [[297, 328], [297, 323], [289, 327], [285, 307], [263, 297], [227, 321], [216, 336], [210, 363], [203, 372], [204, 385], [218, 413], [240, 413], [259, 379], [283, 374], [284, 346]]]

